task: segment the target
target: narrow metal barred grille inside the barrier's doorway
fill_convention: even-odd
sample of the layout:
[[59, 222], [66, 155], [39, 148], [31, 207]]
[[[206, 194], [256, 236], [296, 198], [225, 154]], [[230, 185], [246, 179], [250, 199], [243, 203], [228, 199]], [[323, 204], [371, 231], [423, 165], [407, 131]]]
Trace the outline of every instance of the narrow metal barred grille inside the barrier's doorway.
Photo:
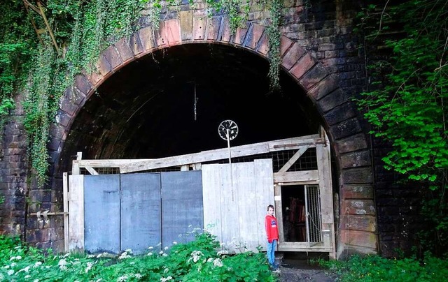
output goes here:
[[319, 186], [305, 186], [307, 198], [307, 241], [310, 243], [322, 242], [321, 234], [321, 198], [319, 197]]

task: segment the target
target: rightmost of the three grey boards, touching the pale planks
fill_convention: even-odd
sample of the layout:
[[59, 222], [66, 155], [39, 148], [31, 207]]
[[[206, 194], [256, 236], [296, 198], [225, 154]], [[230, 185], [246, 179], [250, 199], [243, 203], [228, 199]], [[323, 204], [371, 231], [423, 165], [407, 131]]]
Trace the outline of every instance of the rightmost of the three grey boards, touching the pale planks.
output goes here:
[[162, 172], [162, 246], [195, 239], [204, 229], [202, 173], [200, 170]]

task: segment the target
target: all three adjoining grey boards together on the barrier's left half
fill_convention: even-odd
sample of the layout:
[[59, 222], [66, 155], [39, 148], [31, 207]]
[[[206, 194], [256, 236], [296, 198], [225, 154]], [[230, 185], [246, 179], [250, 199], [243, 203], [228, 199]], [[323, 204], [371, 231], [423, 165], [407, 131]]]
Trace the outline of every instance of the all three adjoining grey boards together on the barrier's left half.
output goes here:
[[85, 251], [144, 253], [192, 228], [204, 228], [200, 171], [84, 176]]

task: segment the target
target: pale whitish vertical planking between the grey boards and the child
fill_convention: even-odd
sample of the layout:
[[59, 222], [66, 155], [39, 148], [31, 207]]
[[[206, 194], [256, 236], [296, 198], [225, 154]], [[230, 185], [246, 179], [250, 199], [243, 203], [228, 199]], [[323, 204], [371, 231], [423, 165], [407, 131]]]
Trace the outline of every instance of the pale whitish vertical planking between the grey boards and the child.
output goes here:
[[232, 164], [232, 175], [228, 164], [202, 165], [202, 182], [206, 230], [230, 251], [265, 248], [266, 207], [274, 203], [272, 161]]

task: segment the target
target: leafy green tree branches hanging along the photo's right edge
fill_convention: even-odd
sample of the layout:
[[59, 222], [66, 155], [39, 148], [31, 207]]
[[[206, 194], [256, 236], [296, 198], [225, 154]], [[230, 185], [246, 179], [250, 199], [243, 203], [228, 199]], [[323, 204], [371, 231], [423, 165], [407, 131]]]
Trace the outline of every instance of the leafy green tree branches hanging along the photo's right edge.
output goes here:
[[[438, 253], [448, 247], [447, 15], [446, 1], [430, 0], [371, 5], [359, 14], [372, 83], [357, 103], [371, 133], [392, 146], [385, 168], [437, 191], [423, 197], [430, 224], [418, 237], [423, 250]], [[388, 36], [397, 30], [402, 35]], [[383, 41], [387, 54], [369, 49]]]

